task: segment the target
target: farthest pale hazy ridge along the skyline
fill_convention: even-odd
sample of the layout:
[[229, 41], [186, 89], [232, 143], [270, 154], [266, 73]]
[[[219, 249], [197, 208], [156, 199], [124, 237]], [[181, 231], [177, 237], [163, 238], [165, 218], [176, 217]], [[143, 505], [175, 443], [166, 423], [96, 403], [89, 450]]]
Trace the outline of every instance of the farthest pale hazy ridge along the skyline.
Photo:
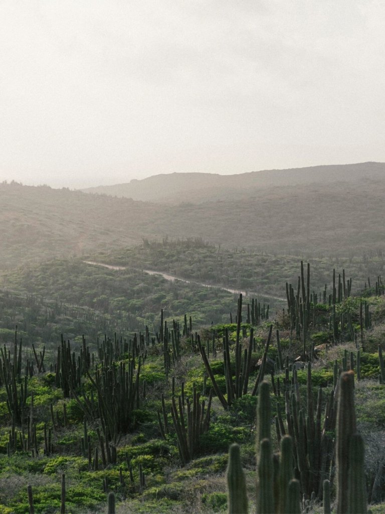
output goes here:
[[170, 173], [114, 186], [83, 189], [86, 193], [107, 194], [156, 203], [203, 203], [207, 200], [252, 196], [255, 191], [334, 182], [364, 182], [385, 178], [385, 163], [363, 162], [288, 170], [265, 170], [238, 175], [211, 173]]

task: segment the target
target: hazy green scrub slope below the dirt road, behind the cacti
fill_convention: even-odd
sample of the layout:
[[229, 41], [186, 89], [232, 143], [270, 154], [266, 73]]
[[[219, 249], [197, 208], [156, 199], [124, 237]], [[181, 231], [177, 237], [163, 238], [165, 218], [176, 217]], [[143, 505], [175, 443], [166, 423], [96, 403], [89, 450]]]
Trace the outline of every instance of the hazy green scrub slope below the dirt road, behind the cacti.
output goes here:
[[[79, 259], [57, 259], [10, 272], [3, 278], [2, 328], [14, 325], [27, 337], [52, 343], [82, 332], [96, 341], [105, 333], [127, 335], [157, 328], [159, 313], [181, 319], [188, 311], [195, 326], [228, 319], [230, 293], [127, 268], [110, 270]], [[10, 292], [10, 290], [12, 292]]]

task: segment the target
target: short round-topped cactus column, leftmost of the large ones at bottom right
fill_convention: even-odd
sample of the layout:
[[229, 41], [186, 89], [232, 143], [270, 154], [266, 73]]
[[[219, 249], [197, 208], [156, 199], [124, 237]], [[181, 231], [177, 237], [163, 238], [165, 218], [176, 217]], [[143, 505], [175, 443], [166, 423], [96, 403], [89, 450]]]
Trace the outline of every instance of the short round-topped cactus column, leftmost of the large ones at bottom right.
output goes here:
[[247, 512], [246, 478], [242, 469], [240, 449], [237, 444], [233, 444], [229, 448], [226, 479], [228, 514], [244, 514]]

